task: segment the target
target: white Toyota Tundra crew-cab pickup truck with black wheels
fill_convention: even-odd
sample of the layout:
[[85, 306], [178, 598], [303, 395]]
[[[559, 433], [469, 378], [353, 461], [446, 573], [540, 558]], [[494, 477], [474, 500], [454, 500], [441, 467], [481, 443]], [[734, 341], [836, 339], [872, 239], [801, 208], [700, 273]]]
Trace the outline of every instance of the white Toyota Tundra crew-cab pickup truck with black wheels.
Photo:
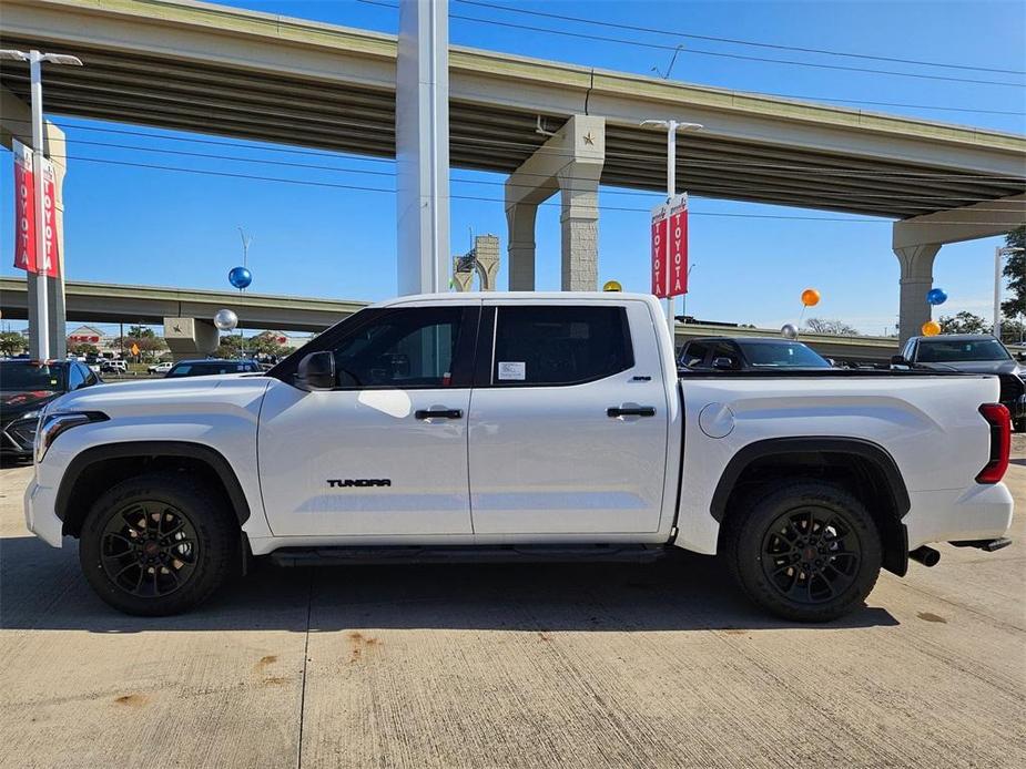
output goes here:
[[40, 417], [29, 529], [79, 537], [132, 614], [282, 564], [720, 554], [764, 608], [824, 621], [931, 542], [996, 550], [998, 380], [678, 373], [656, 299], [403, 297], [266, 373], [89, 388]]

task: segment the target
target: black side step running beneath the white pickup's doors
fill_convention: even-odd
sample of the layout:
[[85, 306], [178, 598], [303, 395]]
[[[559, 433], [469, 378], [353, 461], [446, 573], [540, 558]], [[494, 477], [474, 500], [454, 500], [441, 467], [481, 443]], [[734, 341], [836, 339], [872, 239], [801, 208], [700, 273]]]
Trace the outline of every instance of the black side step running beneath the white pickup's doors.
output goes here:
[[343, 566], [430, 563], [649, 563], [667, 554], [666, 545], [437, 545], [281, 547], [267, 557], [278, 566]]

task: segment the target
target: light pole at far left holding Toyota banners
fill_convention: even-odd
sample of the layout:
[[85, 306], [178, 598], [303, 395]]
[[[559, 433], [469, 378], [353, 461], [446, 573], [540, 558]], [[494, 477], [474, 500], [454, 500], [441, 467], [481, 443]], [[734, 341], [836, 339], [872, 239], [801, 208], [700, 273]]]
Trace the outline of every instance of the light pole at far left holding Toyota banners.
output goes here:
[[40, 53], [32, 49], [28, 53], [16, 50], [0, 50], [0, 59], [29, 62], [29, 81], [32, 101], [32, 176], [35, 180], [35, 335], [39, 338], [38, 357], [50, 357], [50, 321], [47, 304], [45, 247], [43, 227], [43, 62], [49, 64], [72, 64], [82, 66], [82, 60], [64, 53]]

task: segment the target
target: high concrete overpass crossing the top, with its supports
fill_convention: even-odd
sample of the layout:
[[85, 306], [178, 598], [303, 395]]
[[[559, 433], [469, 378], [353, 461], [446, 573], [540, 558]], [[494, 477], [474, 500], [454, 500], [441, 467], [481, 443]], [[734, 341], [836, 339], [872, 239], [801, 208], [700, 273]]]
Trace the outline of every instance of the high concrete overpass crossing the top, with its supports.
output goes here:
[[[174, 0], [4, 0], [2, 44], [83, 60], [48, 72], [53, 113], [395, 154], [392, 35]], [[1026, 221], [1022, 136], [466, 48], [449, 68], [453, 164], [510, 174], [514, 289], [534, 288], [537, 205], [557, 192], [563, 288], [596, 288], [599, 185], [663, 188], [648, 117], [704, 124], [679, 155], [694, 195], [901, 219], [903, 336], [930, 316], [941, 245]], [[22, 66], [0, 74], [26, 98]]]

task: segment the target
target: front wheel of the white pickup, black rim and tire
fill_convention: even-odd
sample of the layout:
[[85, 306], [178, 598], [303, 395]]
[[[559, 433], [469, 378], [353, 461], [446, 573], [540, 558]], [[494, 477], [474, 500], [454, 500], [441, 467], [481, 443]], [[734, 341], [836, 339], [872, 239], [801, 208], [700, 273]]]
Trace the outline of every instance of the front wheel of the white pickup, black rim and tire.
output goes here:
[[90, 509], [79, 562], [90, 586], [125, 614], [196, 606], [238, 558], [238, 526], [217, 490], [184, 472], [122, 481]]

